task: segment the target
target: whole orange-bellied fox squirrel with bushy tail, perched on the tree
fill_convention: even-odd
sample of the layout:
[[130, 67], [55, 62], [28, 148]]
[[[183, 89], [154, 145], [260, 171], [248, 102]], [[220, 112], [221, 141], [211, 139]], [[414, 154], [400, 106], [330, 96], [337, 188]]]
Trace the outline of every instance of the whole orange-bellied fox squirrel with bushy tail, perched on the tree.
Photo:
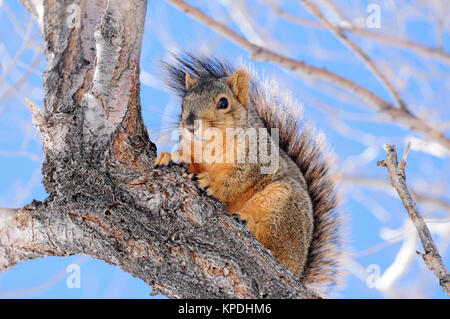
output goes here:
[[[161, 152], [155, 165], [188, 163], [198, 186], [245, 221], [305, 285], [318, 290], [335, 285], [341, 249], [336, 178], [321, 135], [301, 123], [297, 105], [271, 94], [270, 84], [258, 83], [243, 69], [190, 53], [163, 66], [168, 85], [182, 98], [181, 139], [180, 150]], [[261, 159], [249, 160], [248, 130], [273, 128], [279, 136], [261, 134], [256, 143], [263, 153], [277, 155], [275, 169], [264, 173]], [[208, 129], [219, 134], [202, 138]], [[242, 130], [227, 138], [229, 129]], [[198, 153], [205, 153], [213, 141], [215, 147], [207, 152], [213, 160], [199, 160]], [[234, 156], [225, 160], [228, 153]]]

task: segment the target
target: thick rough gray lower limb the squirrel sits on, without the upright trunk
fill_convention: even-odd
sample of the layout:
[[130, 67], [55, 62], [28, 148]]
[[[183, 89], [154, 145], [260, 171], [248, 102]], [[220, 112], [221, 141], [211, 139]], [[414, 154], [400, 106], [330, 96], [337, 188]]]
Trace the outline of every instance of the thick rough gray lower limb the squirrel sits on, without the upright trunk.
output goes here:
[[318, 297], [219, 203], [199, 195], [182, 171], [130, 180], [128, 198], [112, 203], [47, 199], [0, 210], [0, 270], [37, 257], [86, 254], [171, 298]]

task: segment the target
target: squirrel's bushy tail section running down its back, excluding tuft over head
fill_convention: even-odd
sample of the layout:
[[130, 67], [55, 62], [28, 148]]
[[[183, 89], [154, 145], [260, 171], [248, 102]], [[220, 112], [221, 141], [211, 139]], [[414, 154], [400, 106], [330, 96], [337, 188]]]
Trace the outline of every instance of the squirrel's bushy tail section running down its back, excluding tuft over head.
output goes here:
[[280, 147], [297, 163], [308, 185], [313, 204], [314, 231], [301, 281], [324, 291], [338, 282], [342, 252], [341, 219], [337, 215], [338, 176], [330, 170], [334, 161], [321, 132], [303, 120], [302, 107], [289, 95], [280, 97], [276, 84], [253, 83], [252, 99], [268, 128], [279, 129]]

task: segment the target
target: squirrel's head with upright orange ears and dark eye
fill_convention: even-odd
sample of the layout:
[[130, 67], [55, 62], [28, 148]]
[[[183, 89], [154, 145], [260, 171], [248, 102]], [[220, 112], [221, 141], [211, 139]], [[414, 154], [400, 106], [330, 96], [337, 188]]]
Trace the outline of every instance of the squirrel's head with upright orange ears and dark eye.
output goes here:
[[202, 127], [244, 127], [250, 103], [250, 76], [237, 70], [228, 77], [194, 78], [186, 72], [180, 128], [191, 133]]

